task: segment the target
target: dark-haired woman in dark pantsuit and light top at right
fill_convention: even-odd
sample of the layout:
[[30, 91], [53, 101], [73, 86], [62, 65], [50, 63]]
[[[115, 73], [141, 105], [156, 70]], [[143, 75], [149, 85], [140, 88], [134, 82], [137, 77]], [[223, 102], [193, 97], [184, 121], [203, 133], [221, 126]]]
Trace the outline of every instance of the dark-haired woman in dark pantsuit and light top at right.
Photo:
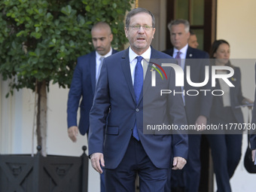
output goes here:
[[[209, 134], [207, 139], [212, 148], [212, 160], [218, 192], [230, 192], [230, 178], [236, 170], [241, 157], [242, 130], [233, 130], [229, 123], [244, 123], [241, 108], [236, 106], [247, 104], [251, 100], [242, 96], [241, 72], [238, 67], [230, 63], [230, 44], [224, 40], [216, 40], [210, 52], [212, 65], [229, 66], [233, 68], [234, 75], [229, 81], [235, 87], [229, 87], [223, 79], [216, 80], [216, 90], [223, 90], [223, 96], [213, 96], [210, 114], [210, 123], [222, 124], [224, 130], [218, 134]], [[219, 75], [227, 74], [227, 70], [218, 70]], [[227, 130], [226, 126], [227, 125]], [[231, 130], [230, 130], [231, 128]], [[238, 131], [237, 131], [238, 130]], [[231, 133], [231, 134], [230, 134]]]

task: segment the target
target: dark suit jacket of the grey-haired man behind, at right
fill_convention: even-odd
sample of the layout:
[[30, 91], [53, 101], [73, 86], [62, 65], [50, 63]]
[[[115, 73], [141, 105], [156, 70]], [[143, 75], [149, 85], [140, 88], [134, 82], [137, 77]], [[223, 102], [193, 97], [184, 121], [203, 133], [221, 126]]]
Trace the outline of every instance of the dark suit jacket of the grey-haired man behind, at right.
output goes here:
[[[173, 49], [165, 50], [164, 53], [173, 55]], [[186, 77], [187, 69], [190, 66], [190, 79], [194, 83], [201, 83], [205, 80], [205, 67], [209, 66], [209, 54], [203, 50], [187, 47], [187, 55], [184, 66], [184, 77]], [[210, 72], [209, 72], [210, 74]], [[211, 77], [211, 76], [210, 76]], [[211, 81], [204, 87], [191, 87], [186, 78], [184, 79], [184, 90], [197, 90], [199, 96], [188, 96], [185, 94], [185, 106], [187, 114], [187, 123], [194, 124], [197, 117], [203, 115], [209, 118], [210, 109], [212, 105], [212, 94], [208, 93], [204, 96], [204, 93], [200, 90], [212, 90]]]

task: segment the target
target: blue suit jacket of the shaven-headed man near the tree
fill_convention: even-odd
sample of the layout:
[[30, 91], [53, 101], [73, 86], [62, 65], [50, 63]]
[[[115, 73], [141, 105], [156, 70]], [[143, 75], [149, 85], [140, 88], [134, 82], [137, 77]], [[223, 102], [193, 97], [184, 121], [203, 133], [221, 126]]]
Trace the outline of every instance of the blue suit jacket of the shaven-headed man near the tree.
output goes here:
[[[112, 54], [117, 50], [112, 49]], [[89, 113], [93, 105], [96, 87], [96, 51], [78, 57], [72, 78], [68, 99], [68, 128], [77, 126], [78, 105], [80, 103], [79, 131], [84, 136], [89, 129]]]

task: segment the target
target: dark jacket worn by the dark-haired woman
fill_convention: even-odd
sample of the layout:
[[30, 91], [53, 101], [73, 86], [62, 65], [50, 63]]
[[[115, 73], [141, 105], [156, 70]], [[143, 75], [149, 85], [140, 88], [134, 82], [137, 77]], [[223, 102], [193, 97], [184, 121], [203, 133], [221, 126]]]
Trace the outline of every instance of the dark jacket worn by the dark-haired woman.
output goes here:
[[[242, 89], [241, 89], [241, 72], [238, 67], [234, 67], [234, 75], [232, 78], [229, 78], [230, 82], [235, 87], [230, 87], [230, 104], [233, 111], [234, 117], [236, 117], [236, 121], [234, 123], [244, 123], [242, 110], [241, 108], [236, 108], [238, 105], [242, 105]], [[216, 81], [216, 90], [221, 90], [221, 86], [219, 81]], [[213, 96], [212, 99], [212, 109], [210, 119], [212, 123], [225, 123], [226, 117], [223, 113], [223, 99], [222, 96]]]

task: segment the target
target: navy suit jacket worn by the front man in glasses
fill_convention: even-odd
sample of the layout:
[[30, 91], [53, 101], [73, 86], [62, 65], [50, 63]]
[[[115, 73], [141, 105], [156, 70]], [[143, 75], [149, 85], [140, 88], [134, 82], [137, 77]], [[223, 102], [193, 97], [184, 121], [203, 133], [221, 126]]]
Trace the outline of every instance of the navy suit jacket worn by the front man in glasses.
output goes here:
[[[153, 48], [152, 58], [171, 59]], [[157, 123], [173, 123], [179, 127], [186, 124], [181, 96], [160, 96], [161, 89], [180, 91], [180, 87], [175, 87], [174, 70], [170, 67], [164, 69], [169, 81], [163, 81], [158, 74], [156, 87], [151, 87], [151, 70], [148, 68], [143, 84], [144, 93], [137, 105], [130, 72], [129, 49], [104, 59], [90, 111], [89, 155], [103, 153], [107, 169], [115, 169], [123, 159], [135, 122], [143, 148], [155, 166], [166, 169], [171, 166], [172, 157], [187, 158], [187, 135], [158, 135], [157, 131], [153, 132], [155, 134], [143, 133], [143, 126], [145, 128], [146, 124], [155, 123], [155, 120]]]

